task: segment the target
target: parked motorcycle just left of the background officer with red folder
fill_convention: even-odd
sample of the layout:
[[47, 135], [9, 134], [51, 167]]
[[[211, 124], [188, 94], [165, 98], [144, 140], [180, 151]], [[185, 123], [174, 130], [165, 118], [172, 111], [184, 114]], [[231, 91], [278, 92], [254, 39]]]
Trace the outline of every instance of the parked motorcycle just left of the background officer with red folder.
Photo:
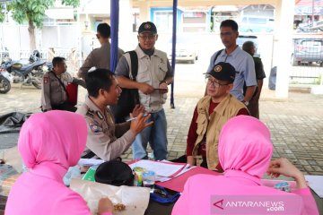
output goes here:
[[13, 75], [13, 82], [22, 82], [24, 86], [33, 85], [41, 89], [42, 78], [44, 75], [43, 66], [45, 61], [40, 60], [39, 51], [35, 50], [29, 59], [30, 64], [22, 64], [8, 58], [3, 62], [4, 68]]

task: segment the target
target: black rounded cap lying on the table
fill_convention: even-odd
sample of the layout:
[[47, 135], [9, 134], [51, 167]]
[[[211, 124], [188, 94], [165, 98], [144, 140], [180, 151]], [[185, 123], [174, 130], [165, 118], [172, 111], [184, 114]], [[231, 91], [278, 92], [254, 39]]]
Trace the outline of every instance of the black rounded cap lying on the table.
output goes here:
[[134, 185], [134, 174], [124, 162], [110, 160], [101, 163], [94, 175], [95, 181], [107, 185]]

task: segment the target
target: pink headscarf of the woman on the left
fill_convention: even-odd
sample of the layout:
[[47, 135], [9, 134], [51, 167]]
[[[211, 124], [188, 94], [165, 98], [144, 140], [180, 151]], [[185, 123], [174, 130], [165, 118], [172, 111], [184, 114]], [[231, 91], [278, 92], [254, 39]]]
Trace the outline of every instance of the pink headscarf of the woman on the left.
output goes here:
[[53, 110], [34, 114], [22, 125], [18, 150], [31, 171], [41, 167], [41, 171], [54, 170], [63, 177], [80, 159], [86, 137], [83, 116]]

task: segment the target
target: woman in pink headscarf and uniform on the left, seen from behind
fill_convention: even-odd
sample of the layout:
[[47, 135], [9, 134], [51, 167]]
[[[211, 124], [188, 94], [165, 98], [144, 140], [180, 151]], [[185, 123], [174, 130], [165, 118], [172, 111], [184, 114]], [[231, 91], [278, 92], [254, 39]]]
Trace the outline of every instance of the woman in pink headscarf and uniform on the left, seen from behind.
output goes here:
[[[91, 214], [86, 202], [63, 183], [69, 167], [84, 150], [87, 126], [83, 116], [66, 111], [32, 115], [23, 125], [18, 150], [29, 172], [20, 176], [8, 196], [5, 214]], [[99, 214], [110, 214], [108, 198]]]

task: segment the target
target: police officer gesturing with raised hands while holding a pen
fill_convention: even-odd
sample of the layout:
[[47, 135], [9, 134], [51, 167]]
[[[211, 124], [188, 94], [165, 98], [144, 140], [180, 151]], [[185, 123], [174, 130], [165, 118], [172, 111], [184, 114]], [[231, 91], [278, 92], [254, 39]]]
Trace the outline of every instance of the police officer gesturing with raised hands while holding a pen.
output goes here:
[[121, 89], [114, 74], [106, 69], [96, 69], [87, 73], [85, 82], [88, 97], [76, 113], [83, 115], [88, 125], [86, 147], [82, 157], [85, 159], [100, 158], [111, 160], [125, 152], [135, 135], [153, 122], [145, 123], [150, 115], [144, 116], [144, 107], [136, 106], [133, 111], [135, 120], [115, 124], [109, 105], [115, 105]]

